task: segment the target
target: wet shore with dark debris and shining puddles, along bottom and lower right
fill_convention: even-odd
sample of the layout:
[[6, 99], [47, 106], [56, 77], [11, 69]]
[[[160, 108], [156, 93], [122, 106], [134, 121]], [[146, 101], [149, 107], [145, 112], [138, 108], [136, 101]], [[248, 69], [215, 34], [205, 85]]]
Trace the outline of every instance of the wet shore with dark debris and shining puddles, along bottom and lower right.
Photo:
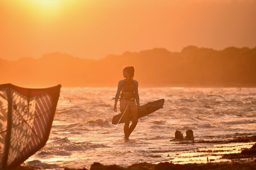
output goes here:
[[[116, 164], [104, 165], [99, 162], [94, 162], [90, 168], [83, 167], [83, 168], [72, 168], [58, 166], [58, 167], [33, 167], [29, 165], [20, 165], [18, 167], [13, 168], [13, 170], [36, 170], [36, 169], [62, 169], [62, 170], [169, 170], [169, 169], [178, 169], [178, 170], [188, 170], [188, 169], [210, 169], [210, 170], [217, 170], [217, 169], [233, 169], [233, 170], [245, 170], [245, 169], [255, 169], [256, 167], [256, 135], [250, 136], [241, 136], [235, 137], [234, 139], [229, 140], [196, 140], [196, 141], [177, 141], [175, 144], [183, 145], [189, 144], [193, 145], [196, 143], [209, 143], [209, 144], [217, 144], [219, 147], [214, 149], [202, 149], [187, 155], [186, 159], [190, 161], [179, 162], [178, 157], [182, 157], [182, 153], [173, 152], [172, 155], [154, 155], [154, 156], [161, 156], [161, 157], [177, 157], [177, 160], [170, 159], [169, 161], [165, 162], [156, 162], [156, 163], [147, 163], [147, 162], [140, 162], [134, 163], [130, 166], [121, 166]], [[244, 147], [243, 144], [250, 144], [249, 147]], [[236, 148], [236, 145], [239, 146]], [[230, 145], [230, 149], [228, 152], [225, 151], [223, 146]], [[251, 147], [252, 146], [252, 147]], [[236, 148], [236, 149], [235, 149]], [[221, 150], [219, 150], [221, 149]], [[186, 155], [186, 153], [184, 153]], [[184, 157], [184, 156], [183, 156]], [[194, 159], [194, 160], [193, 160]], [[203, 159], [203, 160], [202, 160]], [[175, 161], [174, 161], [175, 160]]]

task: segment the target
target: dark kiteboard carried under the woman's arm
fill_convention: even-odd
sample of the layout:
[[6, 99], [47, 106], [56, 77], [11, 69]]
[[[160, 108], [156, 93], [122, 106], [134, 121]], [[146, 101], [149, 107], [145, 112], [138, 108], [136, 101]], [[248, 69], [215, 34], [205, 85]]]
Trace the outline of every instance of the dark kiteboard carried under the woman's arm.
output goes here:
[[[149, 115], [149, 114], [157, 111], [158, 109], [163, 108], [163, 106], [164, 106], [164, 99], [160, 99], [160, 100], [156, 100], [156, 101], [144, 104], [141, 106], [141, 112], [138, 113], [138, 117], [141, 118], [146, 115]], [[123, 115], [122, 113], [115, 115], [112, 119], [112, 124], [116, 125], [116, 124], [124, 123], [124, 119], [123, 119], [122, 115]], [[130, 121], [132, 121], [131, 117], [130, 117]]]

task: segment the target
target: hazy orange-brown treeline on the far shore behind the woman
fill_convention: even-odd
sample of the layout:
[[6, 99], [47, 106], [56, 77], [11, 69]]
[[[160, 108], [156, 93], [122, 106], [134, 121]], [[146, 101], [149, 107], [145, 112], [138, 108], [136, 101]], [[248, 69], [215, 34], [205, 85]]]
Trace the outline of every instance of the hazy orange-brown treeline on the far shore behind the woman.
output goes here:
[[39, 59], [0, 59], [0, 83], [45, 87], [115, 87], [124, 66], [134, 66], [140, 86], [256, 86], [256, 47], [224, 50], [188, 46], [179, 53], [163, 48], [88, 60], [50, 53]]

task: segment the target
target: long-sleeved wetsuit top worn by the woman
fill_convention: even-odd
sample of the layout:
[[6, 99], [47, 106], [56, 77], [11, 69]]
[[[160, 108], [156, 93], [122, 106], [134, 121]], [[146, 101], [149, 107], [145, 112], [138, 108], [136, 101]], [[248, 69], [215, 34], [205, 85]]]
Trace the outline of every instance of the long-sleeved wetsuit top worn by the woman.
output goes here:
[[138, 94], [138, 82], [136, 80], [127, 82], [124, 79], [124, 80], [119, 81], [117, 92], [115, 95], [115, 105], [117, 104], [117, 101], [118, 101], [121, 91], [131, 93], [131, 95], [132, 95], [131, 97], [135, 98], [137, 106], [140, 106], [140, 97]]

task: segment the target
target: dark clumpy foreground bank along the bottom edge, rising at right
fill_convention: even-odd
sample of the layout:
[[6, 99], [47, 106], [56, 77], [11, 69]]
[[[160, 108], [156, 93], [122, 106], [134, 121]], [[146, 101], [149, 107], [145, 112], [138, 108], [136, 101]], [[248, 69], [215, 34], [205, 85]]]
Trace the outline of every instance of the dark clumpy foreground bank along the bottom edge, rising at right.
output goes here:
[[[249, 138], [255, 138], [251, 136]], [[237, 141], [246, 140], [245, 138], [238, 138]], [[128, 167], [121, 167], [118, 165], [102, 165], [100, 163], [95, 162], [92, 164], [90, 170], [167, 170], [167, 169], [178, 169], [178, 170], [187, 170], [187, 169], [232, 169], [232, 170], [247, 170], [247, 169], [255, 169], [256, 167], [256, 143], [249, 149], [242, 149], [240, 153], [231, 153], [231, 154], [223, 154], [221, 159], [229, 159], [231, 161], [226, 162], [217, 162], [217, 163], [188, 163], [188, 164], [174, 164], [172, 162], [161, 162], [158, 164], [151, 163], [138, 163], [133, 164]], [[207, 159], [208, 160], [208, 159]], [[66, 169], [69, 170], [69, 169]]]

